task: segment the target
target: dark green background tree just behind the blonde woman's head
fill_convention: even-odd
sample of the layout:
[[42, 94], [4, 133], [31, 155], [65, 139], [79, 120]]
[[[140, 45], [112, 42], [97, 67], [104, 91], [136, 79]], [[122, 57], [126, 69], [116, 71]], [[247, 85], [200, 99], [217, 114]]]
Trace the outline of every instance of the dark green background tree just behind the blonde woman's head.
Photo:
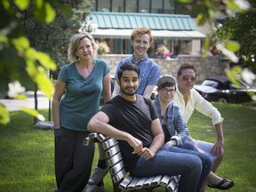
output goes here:
[[33, 15], [33, 2], [22, 12], [22, 25], [31, 46], [36, 50], [48, 53], [58, 67], [68, 62], [67, 47], [70, 36], [77, 33], [81, 27], [81, 20], [91, 12], [92, 6], [88, 0], [72, 1], [72, 16], [68, 17], [60, 8], [55, 8], [56, 17], [51, 23], [35, 20]]

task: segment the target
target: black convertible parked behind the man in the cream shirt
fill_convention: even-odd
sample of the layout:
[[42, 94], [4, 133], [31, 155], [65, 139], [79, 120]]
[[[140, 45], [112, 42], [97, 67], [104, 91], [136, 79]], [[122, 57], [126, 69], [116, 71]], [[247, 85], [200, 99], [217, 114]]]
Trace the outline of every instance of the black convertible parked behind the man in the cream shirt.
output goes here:
[[195, 84], [194, 88], [209, 101], [242, 103], [251, 101], [252, 95], [256, 97], [256, 87], [239, 82], [241, 86], [237, 87], [228, 77], [213, 76], [206, 78], [202, 84]]

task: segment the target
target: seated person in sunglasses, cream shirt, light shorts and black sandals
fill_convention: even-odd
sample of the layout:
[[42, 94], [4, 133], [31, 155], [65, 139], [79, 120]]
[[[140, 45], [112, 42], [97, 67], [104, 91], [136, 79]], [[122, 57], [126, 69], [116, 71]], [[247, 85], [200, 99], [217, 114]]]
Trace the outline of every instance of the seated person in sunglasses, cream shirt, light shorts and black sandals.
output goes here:
[[190, 64], [181, 65], [177, 73], [177, 89], [174, 93], [173, 102], [179, 106], [181, 114], [187, 124], [195, 109], [204, 114], [204, 116], [208, 116], [212, 119], [212, 124], [216, 129], [217, 135], [215, 143], [205, 142], [203, 140], [194, 140], [191, 135], [189, 135], [189, 140], [194, 143], [199, 152], [211, 156], [213, 161], [212, 172], [210, 172], [204, 181], [201, 191], [206, 191], [207, 184], [209, 188], [226, 190], [228, 188], [232, 188], [234, 186], [234, 182], [232, 180], [220, 178], [218, 175], [213, 173], [219, 167], [224, 156], [224, 136], [222, 131], [222, 122], [224, 119], [221, 117], [217, 108], [214, 108], [209, 101], [204, 100], [204, 98], [196, 92], [195, 89], [193, 89], [195, 84], [196, 68]]

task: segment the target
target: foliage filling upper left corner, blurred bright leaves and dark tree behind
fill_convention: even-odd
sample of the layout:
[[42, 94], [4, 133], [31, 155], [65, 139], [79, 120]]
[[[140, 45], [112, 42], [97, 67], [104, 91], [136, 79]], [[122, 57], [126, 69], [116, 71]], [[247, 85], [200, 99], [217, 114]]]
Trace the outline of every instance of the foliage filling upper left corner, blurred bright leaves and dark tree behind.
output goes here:
[[[57, 69], [56, 60], [60, 65], [63, 64], [60, 61], [62, 60], [61, 48], [67, 43], [60, 39], [60, 36], [56, 38], [54, 30], [62, 32], [66, 27], [64, 33], [61, 33], [63, 35], [61, 38], [66, 38], [66, 32], [71, 33], [72, 28], [77, 30], [79, 21], [85, 18], [85, 11], [88, 11], [87, 0], [67, 2], [70, 3], [64, 4], [59, 0], [2, 0], [0, 2], [0, 93], [7, 92], [9, 88], [8, 92], [12, 93], [12, 97], [24, 99], [25, 95], [22, 95], [24, 88], [21, 84], [28, 80], [34, 82], [39, 90], [51, 98], [53, 84], [47, 72]], [[76, 11], [78, 4], [82, 4], [81, 8], [87, 6], [87, 9], [84, 12]], [[71, 9], [68, 5], [71, 5]], [[71, 18], [72, 15], [73, 18]], [[64, 44], [53, 46], [52, 43], [57, 42], [64, 42]], [[60, 52], [60, 54], [54, 54], [54, 52]], [[22, 109], [32, 116], [44, 119], [44, 116], [36, 110]], [[0, 124], [7, 124], [9, 121], [7, 108], [4, 104], [0, 104]]]

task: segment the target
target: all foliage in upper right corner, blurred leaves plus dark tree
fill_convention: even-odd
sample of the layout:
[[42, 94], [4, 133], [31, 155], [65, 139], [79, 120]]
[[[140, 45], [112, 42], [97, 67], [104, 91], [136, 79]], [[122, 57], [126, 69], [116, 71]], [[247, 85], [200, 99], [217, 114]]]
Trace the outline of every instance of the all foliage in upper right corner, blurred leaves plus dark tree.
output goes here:
[[[177, 0], [176, 4], [185, 4], [188, 12], [198, 12], [196, 19], [199, 26], [209, 24], [211, 33], [204, 40], [203, 56], [206, 56], [212, 44], [230, 63], [241, 63], [239, 53], [246, 61], [245, 66], [252, 68], [255, 73], [254, 0]], [[217, 20], [220, 15], [226, 17], [221, 28]], [[238, 78], [243, 78], [248, 84], [256, 79], [252, 71], [248, 72], [239, 65], [227, 68], [226, 73], [237, 86], [241, 85]], [[253, 95], [252, 100], [256, 100]]]

